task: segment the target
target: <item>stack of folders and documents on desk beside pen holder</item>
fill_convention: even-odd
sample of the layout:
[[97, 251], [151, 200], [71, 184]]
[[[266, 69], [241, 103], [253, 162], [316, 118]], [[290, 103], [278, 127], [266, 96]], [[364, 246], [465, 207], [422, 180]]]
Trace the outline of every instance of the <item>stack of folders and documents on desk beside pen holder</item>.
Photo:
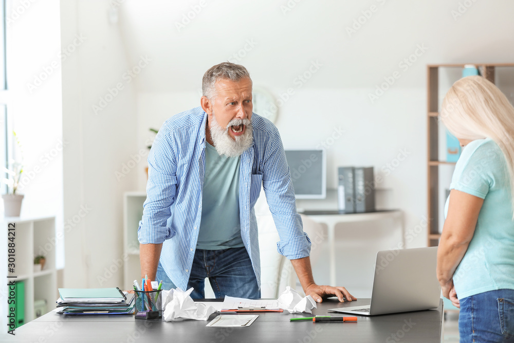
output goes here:
[[[131, 314], [134, 295], [116, 288], [59, 288], [61, 314]], [[130, 299], [127, 299], [128, 298]]]

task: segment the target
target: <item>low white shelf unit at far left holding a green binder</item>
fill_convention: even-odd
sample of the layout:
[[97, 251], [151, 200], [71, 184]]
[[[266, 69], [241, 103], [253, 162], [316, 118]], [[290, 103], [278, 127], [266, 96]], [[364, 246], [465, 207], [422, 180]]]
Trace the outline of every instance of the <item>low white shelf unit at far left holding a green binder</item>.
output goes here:
[[[46, 312], [54, 308], [59, 297], [57, 290], [56, 270], [56, 219], [53, 216], [44, 218], [4, 218], [5, 232], [9, 223], [15, 224], [15, 268], [14, 273], [7, 273], [8, 281], [25, 282], [25, 323], [35, 319], [34, 301], [46, 300]], [[8, 243], [5, 234], [6, 249], [4, 250], [7, 267]], [[34, 257], [45, 256], [45, 266], [40, 272], [34, 273]], [[44, 314], [44, 313], [43, 313]]]

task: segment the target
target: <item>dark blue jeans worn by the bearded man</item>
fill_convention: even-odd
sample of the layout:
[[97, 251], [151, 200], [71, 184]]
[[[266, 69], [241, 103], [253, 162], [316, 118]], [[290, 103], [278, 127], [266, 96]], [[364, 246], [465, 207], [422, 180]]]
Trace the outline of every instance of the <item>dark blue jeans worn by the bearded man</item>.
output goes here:
[[[209, 278], [216, 298], [224, 298], [226, 295], [248, 299], [261, 297], [261, 290], [245, 247], [222, 250], [196, 249], [188, 282], [188, 290], [194, 288], [191, 298], [205, 298], [205, 278]], [[160, 262], [156, 279], [162, 280], [163, 290], [176, 288]]]

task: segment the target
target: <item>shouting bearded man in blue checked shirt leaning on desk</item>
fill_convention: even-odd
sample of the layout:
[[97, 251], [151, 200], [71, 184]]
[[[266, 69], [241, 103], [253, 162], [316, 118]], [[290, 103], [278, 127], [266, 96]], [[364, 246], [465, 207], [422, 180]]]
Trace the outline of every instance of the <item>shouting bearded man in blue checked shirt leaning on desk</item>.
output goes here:
[[248, 70], [225, 62], [206, 71], [201, 107], [168, 119], [148, 156], [146, 201], [138, 228], [141, 275], [163, 289], [194, 288], [205, 297], [205, 278], [216, 298], [257, 299], [260, 256], [254, 205], [261, 185], [277, 226], [277, 249], [316, 301], [344, 287], [320, 286], [310, 267], [284, 148], [276, 127], [252, 113]]

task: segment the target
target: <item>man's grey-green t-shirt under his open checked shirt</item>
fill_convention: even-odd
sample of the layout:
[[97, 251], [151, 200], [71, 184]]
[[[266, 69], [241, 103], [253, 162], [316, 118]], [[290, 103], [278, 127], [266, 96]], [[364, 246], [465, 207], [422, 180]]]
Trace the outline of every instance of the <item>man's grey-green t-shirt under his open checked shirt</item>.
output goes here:
[[197, 249], [245, 246], [239, 221], [240, 157], [220, 156], [207, 141]]

